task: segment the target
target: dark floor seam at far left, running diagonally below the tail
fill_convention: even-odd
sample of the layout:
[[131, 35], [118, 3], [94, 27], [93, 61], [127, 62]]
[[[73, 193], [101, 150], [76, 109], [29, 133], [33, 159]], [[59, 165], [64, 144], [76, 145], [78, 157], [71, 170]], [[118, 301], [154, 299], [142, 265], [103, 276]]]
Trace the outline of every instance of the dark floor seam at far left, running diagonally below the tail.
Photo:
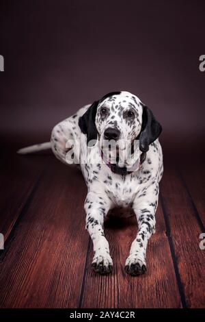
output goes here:
[[27, 210], [29, 209], [31, 201], [33, 200], [33, 197], [36, 194], [36, 191], [38, 190], [38, 186], [40, 185], [40, 182], [41, 182], [41, 179], [44, 175], [45, 169], [46, 169], [46, 166], [40, 172], [40, 175], [36, 181], [36, 184], [34, 184], [33, 189], [31, 190], [31, 193], [29, 194], [29, 197], [27, 197], [27, 200], [25, 201], [25, 204], [24, 204], [20, 214], [18, 215], [18, 218], [16, 219], [16, 221], [12, 227], [12, 230], [10, 231], [10, 234], [8, 235], [8, 238], [5, 240], [4, 249], [0, 253], [0, 259], [5, 257], [7, 250], [9, 248], [9, 245], [12, 243], [12, 238], [14, 236], [14, 232], [15, 232], [16, 228], [18, 227], [18, 224], [20, 223], [20, 221], [22, 221], [23, 217], [27, 213]]

